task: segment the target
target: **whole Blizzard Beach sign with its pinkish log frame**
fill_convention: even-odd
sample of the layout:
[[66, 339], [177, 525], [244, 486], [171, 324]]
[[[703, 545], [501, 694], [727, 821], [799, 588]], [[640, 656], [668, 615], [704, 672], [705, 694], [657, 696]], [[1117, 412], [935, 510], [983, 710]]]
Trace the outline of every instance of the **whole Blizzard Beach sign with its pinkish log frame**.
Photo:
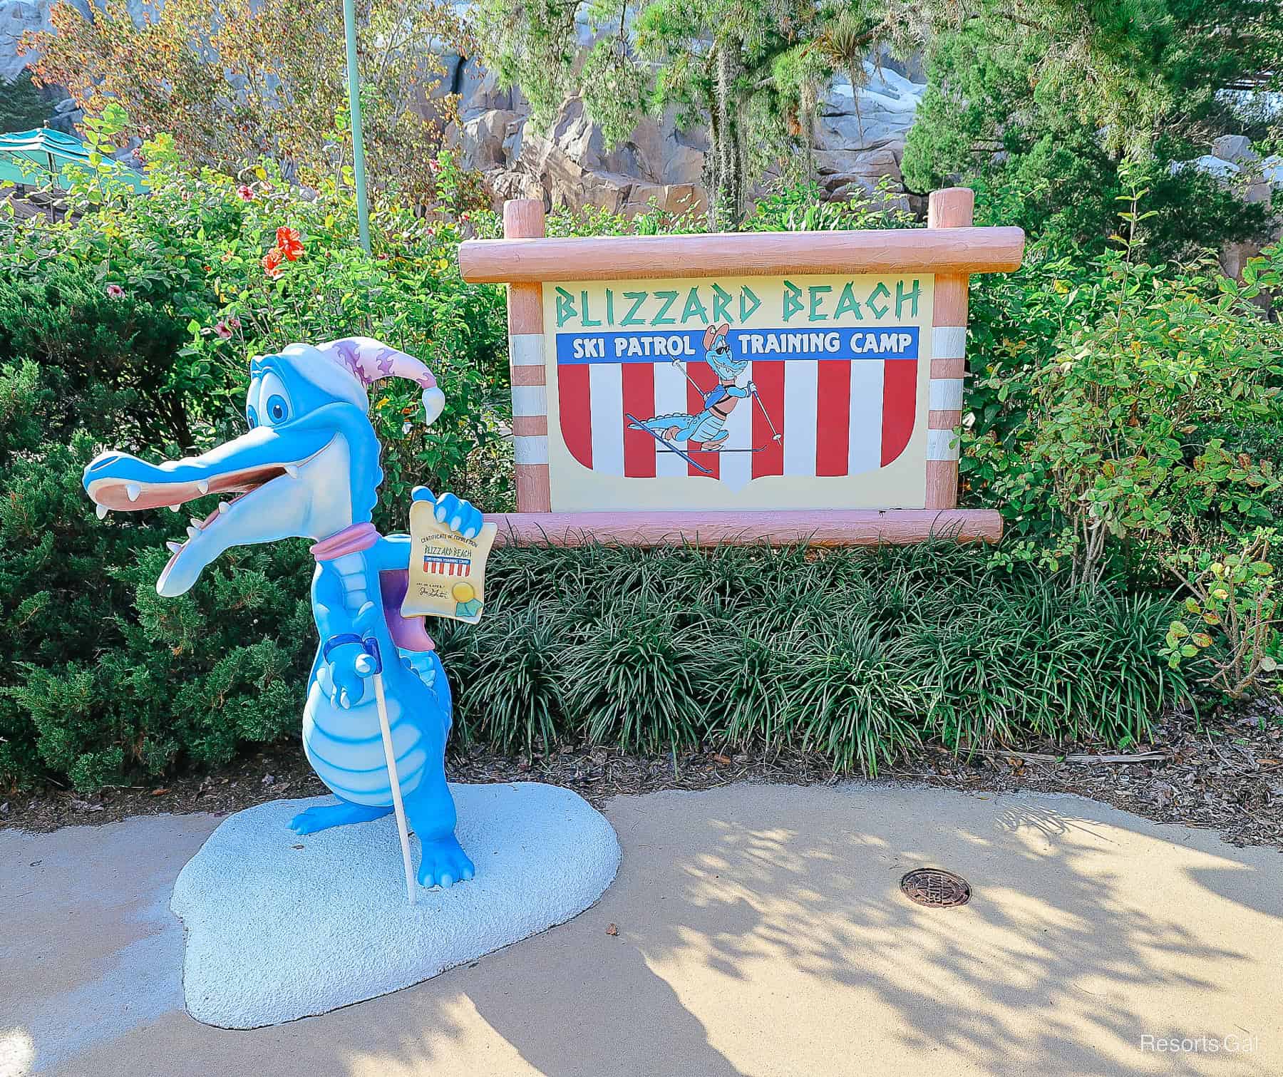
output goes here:
[[971, 226], [545, 239], [543, 203], [459, 248], [506, 282], [517, 507], [500, 543], [996, 542], [958, 510], [967, 280], [1024, 232]]

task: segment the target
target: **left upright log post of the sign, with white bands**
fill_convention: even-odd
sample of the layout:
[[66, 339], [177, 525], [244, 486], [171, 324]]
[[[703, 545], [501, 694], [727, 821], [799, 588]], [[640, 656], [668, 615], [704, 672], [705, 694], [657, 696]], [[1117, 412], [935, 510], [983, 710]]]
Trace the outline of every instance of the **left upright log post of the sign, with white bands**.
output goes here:
[[[503, 204], [504, 239], [543, 239], [544, 204]], [[544, 367], [544, 290], [508, 285], [508, 361], [512, 372], [512, 442], [518, 512], [548, 512], [548, 388]]]

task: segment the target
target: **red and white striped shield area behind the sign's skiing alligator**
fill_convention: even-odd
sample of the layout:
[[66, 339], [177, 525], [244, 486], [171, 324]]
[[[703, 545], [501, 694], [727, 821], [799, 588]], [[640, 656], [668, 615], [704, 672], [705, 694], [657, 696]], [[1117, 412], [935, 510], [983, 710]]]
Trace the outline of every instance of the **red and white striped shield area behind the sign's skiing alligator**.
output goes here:
[[[743, 354], [734, 349], [735, 335], [733, 330], [733, 350]], [[916, 354], [753, 359], [736, 384], [751, 381], [757, 398], [736, 402], [722, 448], [711, 451], [629, 429], [629, 416], [703, 411], [703, 394], [718, 384], [703, 359], [558, 362], [562, 438], [593, 471], [630, 479], [711, 478], [738, 489], [766, 475], [840, 476], [885, 467], [913, 430]]]

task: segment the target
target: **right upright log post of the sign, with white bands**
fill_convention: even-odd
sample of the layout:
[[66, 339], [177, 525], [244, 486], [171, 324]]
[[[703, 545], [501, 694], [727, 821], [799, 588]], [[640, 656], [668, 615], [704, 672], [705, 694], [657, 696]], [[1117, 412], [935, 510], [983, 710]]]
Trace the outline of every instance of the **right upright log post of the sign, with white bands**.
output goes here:
[[[969, 187], [931, 191], [928, 228], [967, 228], [975, 211]], [[966, 273], [935, 277], [931, 388], [926, 412], [926, 507], [957, 508], [962, 376], [966, 372]]]

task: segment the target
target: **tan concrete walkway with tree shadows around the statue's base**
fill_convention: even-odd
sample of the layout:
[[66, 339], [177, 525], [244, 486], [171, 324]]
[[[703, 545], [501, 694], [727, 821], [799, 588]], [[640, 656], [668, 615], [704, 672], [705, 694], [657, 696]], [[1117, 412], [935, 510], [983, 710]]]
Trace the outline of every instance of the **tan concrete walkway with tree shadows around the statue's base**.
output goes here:
[[[624, 865], [577, 919], [251, 1032], [182, 1012], [168, 895], [217, 819], [0, 832], [0, 1077], [1283, 1073], [1275, 850], [867, 783], [607, 814]], [[971, 904], [911, 905], [898, 881], [924, 865]]]

